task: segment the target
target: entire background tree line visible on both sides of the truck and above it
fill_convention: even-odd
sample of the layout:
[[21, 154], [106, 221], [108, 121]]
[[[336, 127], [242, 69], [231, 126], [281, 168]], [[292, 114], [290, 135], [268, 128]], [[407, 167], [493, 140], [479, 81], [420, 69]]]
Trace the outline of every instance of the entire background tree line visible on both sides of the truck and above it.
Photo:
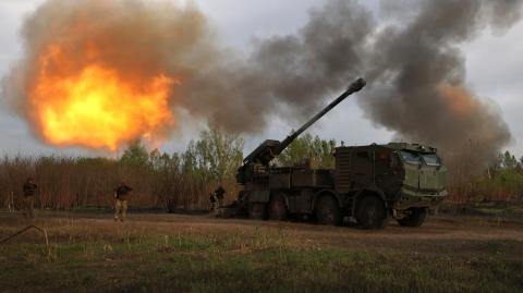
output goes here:
[[[333, 139], [304, 134], [275, 161], [276, 166], [335, 168]], [[173, 154], [148, 151], [139, 141], [131, 143], [118, 159], [37, 156], [4, 156], [0, 161], [0, 206], [17, 206], [22, 185], [35, 176], [39, 185], [36, 205], [70, 209], [112, 204], [113, 188], [125, 181], [134, 188], [131, 204], [139, 207], [205, 209], [218, 186], [227, 190], [226, 203], [236, 198], [238, 167], [243, 160], [244, 141], [210, 129]], [[451, 168], [450, 202], [523, 200], [523, 158], [506, 151], [487, 170], [467, 172]]]

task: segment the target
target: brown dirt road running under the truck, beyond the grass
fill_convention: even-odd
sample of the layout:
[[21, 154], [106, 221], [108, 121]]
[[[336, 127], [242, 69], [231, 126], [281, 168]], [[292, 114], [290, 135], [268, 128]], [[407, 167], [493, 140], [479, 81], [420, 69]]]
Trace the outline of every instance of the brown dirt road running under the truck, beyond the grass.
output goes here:
[[[133, 233], [174, 234], [193, 233], [210, 235], [254, 236], [262, 233], [279, 235], [292, 244], [321, 244], [337, 247], [401, 248], [416, 252], [455, 252], [496, 242], [512, 243], [523, 255], [523, 223], [495, 218], [435, 216], [421, 228], [403, 228], [391, 220], [382, 230], [361, 230], [356, 227], [324, 227], [309, 222], [253, 221], [244, 219], [217, 219], [211, 216], [131, 215], [124, 223], [115, 223], [110, 215], [40, 213], [36, 222], [59, 232], [74, 227], [74, 233], [96, 230], [99, 234], [113, 234], [124, 228]], [[22, 227], [20, 217], [0, 213], [4, 224], [13, 230]], [[8, 224], [10, 223], [10, 224]], [[1, 224], [2, 228], [8, 227]], [[1, 231], [4, 234], [8, 231]], [[60, 233], [59, 233], [60, 234]], [[474, 246], [474, 247], [471, 247]]]

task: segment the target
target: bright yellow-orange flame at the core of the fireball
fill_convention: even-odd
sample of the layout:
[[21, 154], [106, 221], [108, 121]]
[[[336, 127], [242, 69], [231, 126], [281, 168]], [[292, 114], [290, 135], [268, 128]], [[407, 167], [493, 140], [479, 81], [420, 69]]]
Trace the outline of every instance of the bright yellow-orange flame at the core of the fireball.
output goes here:
[[29, 106], [52, 145], [114, 151], [131, 139], [159, 138], [174, 123], [169, 97], [178, 81], [163, 74], [136, 82], [96, 62], [72, 71], [59, 46], [49, 47], [39, 68]]

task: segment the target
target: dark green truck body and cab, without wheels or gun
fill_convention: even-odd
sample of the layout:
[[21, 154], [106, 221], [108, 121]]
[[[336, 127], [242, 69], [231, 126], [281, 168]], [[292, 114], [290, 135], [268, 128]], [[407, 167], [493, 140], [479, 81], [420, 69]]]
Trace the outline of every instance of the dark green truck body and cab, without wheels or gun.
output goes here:
[[[315, 216], [321, 197], [335, 199], [340, 218], [356, 217], [358, 202], [372, 196], [382, 203], [388, 216], [402, 219], [412, 209], [436, 208], [447, 195], [447, 169], [434, 148], [410, 144], [338, 147], [335, 157], [333, 170], [253, 168], [253, 180], [245, 186], [247, 200], [251, 207], [265, 209], [254, 218]], [[276, 197], [283, 198], [287, 215], [271, 217]]]

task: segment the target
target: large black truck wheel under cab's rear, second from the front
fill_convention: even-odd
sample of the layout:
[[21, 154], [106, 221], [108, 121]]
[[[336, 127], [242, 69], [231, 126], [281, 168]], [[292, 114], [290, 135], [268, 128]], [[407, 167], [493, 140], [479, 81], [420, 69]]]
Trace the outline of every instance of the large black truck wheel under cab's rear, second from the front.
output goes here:
[[365, 196], [356, 206], [356, 221], [363, 229], [380, 229], [385, 225], [387, 210], [381, 199], [376, 196]]

